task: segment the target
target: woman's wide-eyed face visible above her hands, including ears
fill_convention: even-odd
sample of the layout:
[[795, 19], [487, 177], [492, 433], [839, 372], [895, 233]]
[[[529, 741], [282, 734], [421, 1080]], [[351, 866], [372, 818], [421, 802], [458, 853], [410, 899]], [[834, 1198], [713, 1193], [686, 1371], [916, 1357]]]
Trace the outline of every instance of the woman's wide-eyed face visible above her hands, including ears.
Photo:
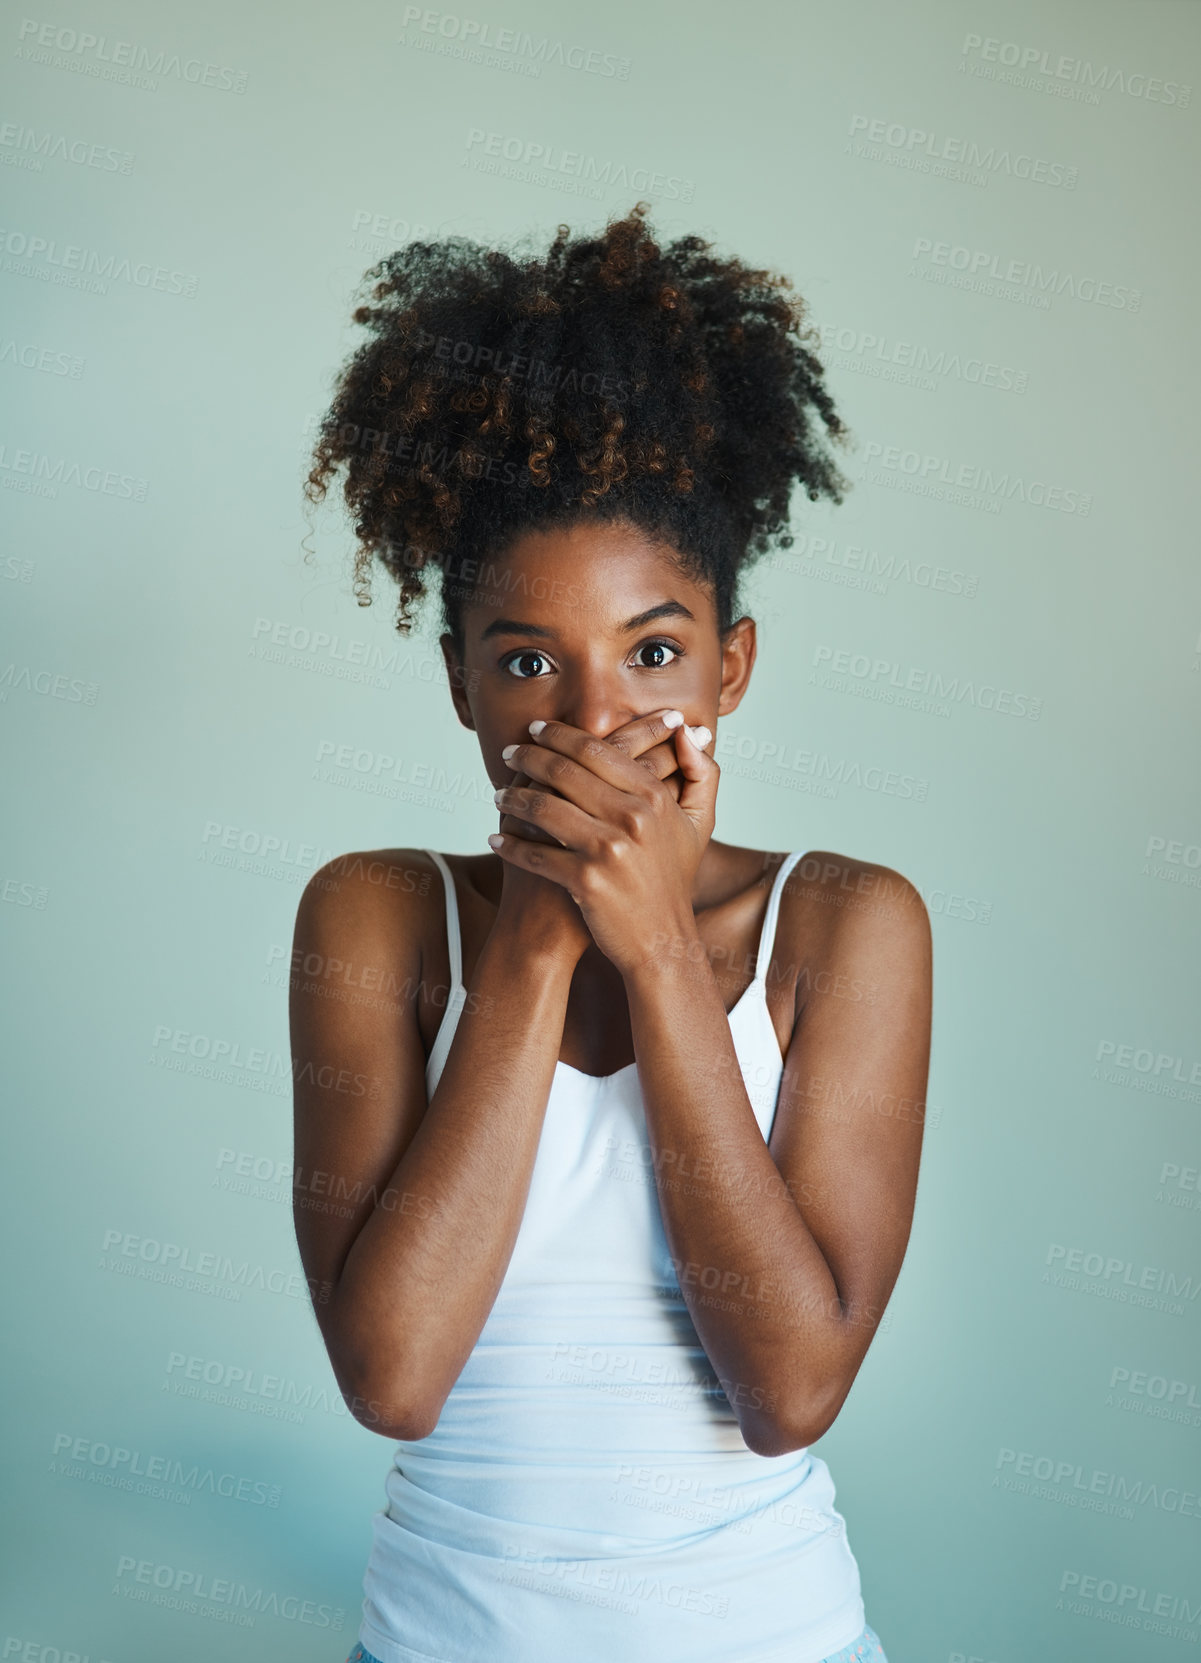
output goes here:
[[517, 537], [482, 562], [462, 634], [462, 660], [441, 637], [451, 697], [479, 733], [492, 785], [512, 778], [501, 752], [527, 743], [536, 717], [607, 738], [674, 708], [717, 735], [755, 662], [754, 620], [739, 619], [722, 642], [709, 585], [627, 522]]

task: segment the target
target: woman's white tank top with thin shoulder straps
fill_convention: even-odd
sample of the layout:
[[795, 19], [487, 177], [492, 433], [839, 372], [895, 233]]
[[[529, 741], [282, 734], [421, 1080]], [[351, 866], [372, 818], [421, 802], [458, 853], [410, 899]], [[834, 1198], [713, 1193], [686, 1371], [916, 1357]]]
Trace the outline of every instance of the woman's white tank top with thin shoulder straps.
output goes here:
[[[466, 1001], [442, 873], [451, 993]], [[755, 980], [729, 1013], [767, 1139], [783, 1073], [767, 1009], [780, 865]], [[557, 1063], [496, 1302], [428, 1438], [374, 1515], [359, 1640], [383, 1663], [820, 1663], [863, 1630], [833, 1482], [755, 1455], [672, 1271], [634, 1063]]]

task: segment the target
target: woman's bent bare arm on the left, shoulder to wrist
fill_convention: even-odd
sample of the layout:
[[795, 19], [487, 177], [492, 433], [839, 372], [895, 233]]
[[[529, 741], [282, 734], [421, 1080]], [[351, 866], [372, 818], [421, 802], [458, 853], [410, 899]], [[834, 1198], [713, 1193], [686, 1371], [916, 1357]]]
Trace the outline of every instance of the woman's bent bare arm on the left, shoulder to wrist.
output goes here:
[[338, 1385], [389, 1438], [429, 1435], [496, 1300], [579, 956], [544, 910], [502, 906], [426, 1103], [424, 875], [408, 850], [331, 861], [293, 956], [296, 1239]]

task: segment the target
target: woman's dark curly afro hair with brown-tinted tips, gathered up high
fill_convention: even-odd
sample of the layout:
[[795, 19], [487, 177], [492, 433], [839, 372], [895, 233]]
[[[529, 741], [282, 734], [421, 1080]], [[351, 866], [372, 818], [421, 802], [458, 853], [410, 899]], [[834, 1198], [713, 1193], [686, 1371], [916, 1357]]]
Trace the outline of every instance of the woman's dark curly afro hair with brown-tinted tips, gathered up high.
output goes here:
[[725, 634], [740, 570], [792, 544], [793, 481], [842, 502], [825, 439], [847, 429], [788, 278], [699, 236], [660, 248], [647, 211], [574, 241], [561, 225], [544, 258], [454, 236], [364, 274], [373, 304], [353, 318], [369, 339], [338, 376], [304, 494], [321, 502], [346, 464], [354, 594], [371, 604], [379, 559], [401, 634], [432, 565], [461, 650], [481, 564], [582, 519], [665, 544], [712, 585]]

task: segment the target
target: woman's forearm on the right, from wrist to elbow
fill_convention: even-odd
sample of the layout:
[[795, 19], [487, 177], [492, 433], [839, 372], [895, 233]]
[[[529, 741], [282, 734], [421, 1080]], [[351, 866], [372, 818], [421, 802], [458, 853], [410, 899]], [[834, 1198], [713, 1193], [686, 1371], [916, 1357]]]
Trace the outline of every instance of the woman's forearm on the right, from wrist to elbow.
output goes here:
[[857, 1319], [769, 1154], [712, 971], [685, 955], [629, 973], [625, 993], [680, 1290], [744, 1435], [769, 1453], [820, 1412]]

